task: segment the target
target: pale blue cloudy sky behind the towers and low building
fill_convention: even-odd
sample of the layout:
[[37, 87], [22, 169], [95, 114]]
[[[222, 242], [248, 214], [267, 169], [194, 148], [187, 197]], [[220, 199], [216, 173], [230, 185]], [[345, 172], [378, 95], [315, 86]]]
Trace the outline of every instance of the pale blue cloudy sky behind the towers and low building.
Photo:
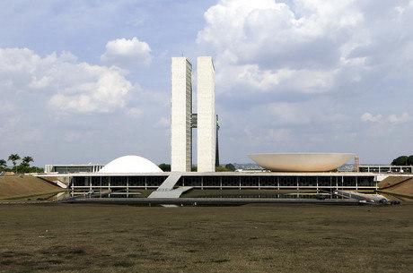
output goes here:
[[413, 154], [412, 25], [413, 0], [0, 1], [0, 159], [170, 163], [171, 57], [195, 99], [211, 55], [221, 163], [390, 164]]

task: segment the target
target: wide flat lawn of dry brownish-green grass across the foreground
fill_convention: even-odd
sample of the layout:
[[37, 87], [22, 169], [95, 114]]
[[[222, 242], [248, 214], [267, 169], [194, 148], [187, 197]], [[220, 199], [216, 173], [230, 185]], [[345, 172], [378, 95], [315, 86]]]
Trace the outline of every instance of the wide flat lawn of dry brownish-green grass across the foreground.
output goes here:
[[409, 272], [413, 204], [0, 206], [4, 272]]

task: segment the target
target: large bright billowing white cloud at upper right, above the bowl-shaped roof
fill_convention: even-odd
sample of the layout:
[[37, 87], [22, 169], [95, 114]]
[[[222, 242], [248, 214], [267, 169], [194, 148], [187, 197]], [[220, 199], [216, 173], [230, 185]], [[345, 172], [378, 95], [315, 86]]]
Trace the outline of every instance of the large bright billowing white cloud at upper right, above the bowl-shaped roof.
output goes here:
[[377, 20], [373, 1], [220, 0], [204, 14], [197, 43], [215, 56], [225, 92], [367, 90], [375, 76], [389, 73], [382, 64], [391, 65], [394, 78], [396, 71], [411, 73], [402, 61], [411, 58], [410, 5], [374, 8]]

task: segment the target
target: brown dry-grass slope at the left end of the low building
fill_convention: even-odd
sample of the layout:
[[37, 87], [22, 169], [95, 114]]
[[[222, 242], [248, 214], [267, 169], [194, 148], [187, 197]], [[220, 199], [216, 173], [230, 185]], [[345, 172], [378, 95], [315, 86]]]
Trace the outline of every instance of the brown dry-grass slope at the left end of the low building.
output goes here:
[[0, 200], [62, 191], [62, 188], [34, 176], [0, 176]]

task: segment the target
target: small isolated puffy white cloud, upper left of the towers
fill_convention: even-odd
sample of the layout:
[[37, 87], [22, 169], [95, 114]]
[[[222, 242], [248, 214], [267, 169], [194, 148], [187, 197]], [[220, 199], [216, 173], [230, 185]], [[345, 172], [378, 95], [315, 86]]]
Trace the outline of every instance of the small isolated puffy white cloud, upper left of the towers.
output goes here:
[[136, 37], [118, 38], [106, 44], [106, 52], [101, 55], [104, 64], [120, 67], [148, 66], [152, 62], [151, 48]]

